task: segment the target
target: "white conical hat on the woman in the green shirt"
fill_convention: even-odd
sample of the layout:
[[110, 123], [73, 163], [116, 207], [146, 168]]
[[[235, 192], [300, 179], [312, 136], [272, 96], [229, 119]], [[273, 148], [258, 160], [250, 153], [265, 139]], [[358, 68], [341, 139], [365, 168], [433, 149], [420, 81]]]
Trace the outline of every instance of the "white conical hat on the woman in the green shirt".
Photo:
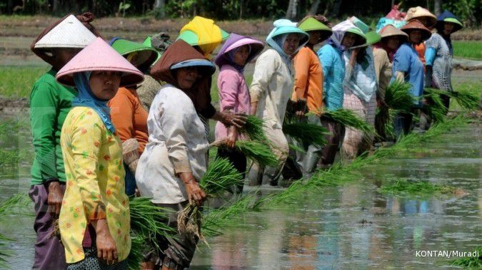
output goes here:
[[37, 41], [34, 48], [85, 48], [95, 40], [94, 33], [70, 15]]

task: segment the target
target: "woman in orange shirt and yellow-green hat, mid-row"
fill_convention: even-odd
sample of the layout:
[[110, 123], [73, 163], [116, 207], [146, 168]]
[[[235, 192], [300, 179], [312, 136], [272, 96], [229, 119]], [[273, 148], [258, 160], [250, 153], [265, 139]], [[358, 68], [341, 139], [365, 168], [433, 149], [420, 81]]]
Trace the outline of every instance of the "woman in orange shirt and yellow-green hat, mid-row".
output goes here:
[[[316, 56], [314, 46], [331, 36], [331, 29], [323, 24], [328, 21], [323, 16], [306, 16], [298, 23], [298, 28], [308, 33], [310, 38], [293, 59], [295, 68], [294, 91], [291, 100], [295, 103], [296, 117], [301, 122], [321, 125], [323, 113], [323, 68]], [[306, 113], [311, 113], [305, 116]], [[298, 145], [297, 142], [293, 142]], [[298, 145], [306, 152], [296, 151], [296, 162], [305, 176], [311, 175], [321, 158], [321, 148], [316, 145]]]

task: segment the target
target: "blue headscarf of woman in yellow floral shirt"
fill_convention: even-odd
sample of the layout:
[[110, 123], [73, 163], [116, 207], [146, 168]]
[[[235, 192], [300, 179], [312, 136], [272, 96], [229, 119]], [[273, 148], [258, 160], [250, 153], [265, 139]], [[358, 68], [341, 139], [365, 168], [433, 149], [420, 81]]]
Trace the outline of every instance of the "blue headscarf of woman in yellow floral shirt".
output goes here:
[[107, 106], [109, 100], [96, 98], [89, 85], [90, 77], [91, 71], [74, 73], [74, 83], [79, 91], [79, 95], [72, 100], [72, 107], [92, 108], [99, 115], [106, 128], [111, 133], [115, 133], [116, 128], [114, 128], [114, 124], [111, 121], [111, 109]]

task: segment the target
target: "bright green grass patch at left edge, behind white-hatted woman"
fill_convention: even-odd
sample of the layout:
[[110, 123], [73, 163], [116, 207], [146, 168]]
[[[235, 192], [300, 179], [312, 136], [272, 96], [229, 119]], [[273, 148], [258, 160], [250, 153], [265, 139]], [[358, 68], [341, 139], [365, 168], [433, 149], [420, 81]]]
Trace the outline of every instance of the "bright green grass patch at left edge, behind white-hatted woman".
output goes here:
[[0, 96], [6, 98], [28, 98], [34, 82], [49, 68], [1, 67]]

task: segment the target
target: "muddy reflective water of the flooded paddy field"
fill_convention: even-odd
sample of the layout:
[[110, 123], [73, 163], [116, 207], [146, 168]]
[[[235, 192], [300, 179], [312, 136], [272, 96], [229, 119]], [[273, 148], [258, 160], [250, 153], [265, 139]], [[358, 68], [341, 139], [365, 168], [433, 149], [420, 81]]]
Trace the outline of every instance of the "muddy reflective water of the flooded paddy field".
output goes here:
[[[29, 130], [21, 127], [0, 135], [3, 149], [30, 150]], [[347, 185], [306, 194], [282, 209], [247, 214], [236, 220], [242, 227], [226, 228], [208, 239], [209, 247], [201, 244], [192, 269], [451, 268], [446, 258], [417, 257], [416, 251], [472, 251], [482, 244], [481, 133], [480, 125], [453, 130], [364, 168], [360, 179]], [[28, 163], [0, 169], [0, 200], [28, 192]], [[413, 199], [378, 191], [398, 178], [453, 185], [468, 195]], [[31, 267], [32, 224], [29, 216], [0, 220], [0, 232], [16, 239], [9, 245], [15, 252], [11, 269]]]

